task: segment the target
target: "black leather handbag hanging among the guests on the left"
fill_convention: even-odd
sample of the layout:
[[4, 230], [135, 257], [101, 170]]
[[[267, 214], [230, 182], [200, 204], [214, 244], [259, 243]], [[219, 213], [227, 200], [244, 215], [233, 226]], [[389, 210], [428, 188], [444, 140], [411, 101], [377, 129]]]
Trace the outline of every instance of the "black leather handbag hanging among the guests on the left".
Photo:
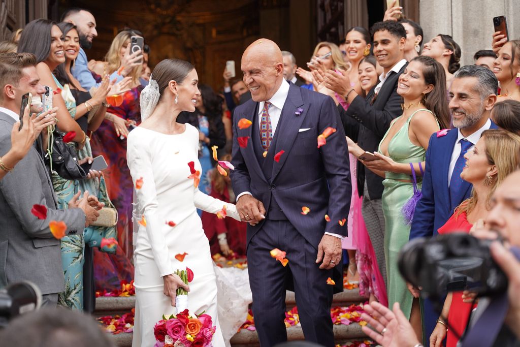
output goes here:
[[53, 132], [53, 151], [50, 155], [51, 168], [65, 179], [84, 179], [87, 172], [77, 163], [74, 147], [63, 142], [63, 134], [58, 130]]

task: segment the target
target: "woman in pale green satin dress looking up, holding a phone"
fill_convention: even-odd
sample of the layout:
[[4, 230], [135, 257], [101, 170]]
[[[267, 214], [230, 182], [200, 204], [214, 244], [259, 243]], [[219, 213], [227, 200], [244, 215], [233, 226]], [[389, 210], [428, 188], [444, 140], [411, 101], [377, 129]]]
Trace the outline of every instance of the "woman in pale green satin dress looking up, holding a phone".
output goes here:
[[[433, 133], [449, 127], [450, 113], [446, 99], [444, 69], [430, 57], [416, 57], [399, 76], [397, 93], [402, 96], [402, 115], [396, 118], [379, 145], [378, 159], [363, 161], [371, 171], [385, 177], [382, 197], [385, 215], [385, 259], [387, 271], [388, 306], [399, 302], [418, 336], [422, 336], [419, 305], [397, 268], [397, 254], [408, 242], [410, 221], [402, 213], [403, 205], [413, 197], [412, 167], [420, 178], [428, 142]], [[362, 149], [356, 150], [359, 155]], [[411, 165], [410, 165], [411, 164]], [[421, 164], [422, 168], [420, 168]]]

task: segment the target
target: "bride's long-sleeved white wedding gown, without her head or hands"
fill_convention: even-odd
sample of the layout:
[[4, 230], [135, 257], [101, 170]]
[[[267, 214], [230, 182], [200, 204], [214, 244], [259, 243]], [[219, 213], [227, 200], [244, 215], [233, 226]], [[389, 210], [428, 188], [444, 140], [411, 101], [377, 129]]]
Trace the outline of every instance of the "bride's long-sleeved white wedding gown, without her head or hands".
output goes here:
[[[128, 135], [127, 160], [135, 185], [142, 177], [142, 187], [134, 196], [134, 265], [136, 307], [133, 347], [155, 344], [153, 326], [162, 315], [175, 314], [171, 300], [163, 293], [162, 276], [177, 269], [192, 269], [188, 306], [191, 314], [205, 311], [217, 326], [212, 344], [224, 346], [217, 317], [217, 285], [210, 245], [197, 208], [216, 213], [227, 206], [227, 214], [240, 217], [233, 204], [210, 197], [193, 185], [188, 178], [188, 162], [198, 160], [199, 131], [186, 124], [184, 133], [167, 135], [137, 127]], [[203, 173], [201, 172], [201, 175]], [[144, 216], [146, 227], [138, 224]], [[174, 222], [175, 226], [168, 225]], [[176, 254], [188, 253], [183, 262]]]

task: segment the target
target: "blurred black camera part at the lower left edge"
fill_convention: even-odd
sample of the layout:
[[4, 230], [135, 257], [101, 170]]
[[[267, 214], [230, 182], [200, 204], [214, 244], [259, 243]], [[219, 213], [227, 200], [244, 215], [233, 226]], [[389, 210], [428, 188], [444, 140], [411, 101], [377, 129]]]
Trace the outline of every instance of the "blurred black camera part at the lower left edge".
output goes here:
[[0, 289], [0, 328], [23, 313], [37, 310], [42, 305], [40, 289], [29, 281], [13, 283]]

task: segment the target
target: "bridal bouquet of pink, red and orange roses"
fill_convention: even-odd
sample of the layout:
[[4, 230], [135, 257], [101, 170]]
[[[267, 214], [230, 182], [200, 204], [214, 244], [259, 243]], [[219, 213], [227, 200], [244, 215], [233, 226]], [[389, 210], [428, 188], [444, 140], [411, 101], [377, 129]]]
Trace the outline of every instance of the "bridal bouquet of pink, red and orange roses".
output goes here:
[[216, 326], [211, 316], [190, 316], [188, 309], [170, 317], [163, 316], [153, 327], [154, 347], [205, 347], [211, 346]]

